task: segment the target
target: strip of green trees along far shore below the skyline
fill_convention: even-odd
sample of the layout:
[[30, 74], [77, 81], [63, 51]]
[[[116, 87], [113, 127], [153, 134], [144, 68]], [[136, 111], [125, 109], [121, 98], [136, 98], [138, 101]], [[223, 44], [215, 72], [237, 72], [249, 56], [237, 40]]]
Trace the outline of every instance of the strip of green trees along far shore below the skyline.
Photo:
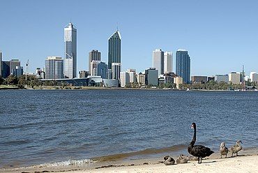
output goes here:
[[[103, 84], [96, 84], [91, 87], [75, 87], [67, 82], [57, 82], [56, 80], [46, 80], [41, 81], [36, 78], [35, 75], [27, 75], [27, 80], [25, 79], [25, 75], [20, 77], [16, 77], [15, 75], [9, 75], [6, 79], [0, 77], [0, 89], [24, 89], [27, 84], [27, 88], [31, 89], [89, 89], [89, 88], [104, 88], [101, 87]], [[249, 88], [257, 88], [257, 84], [255, 82], [245, 81], [245, 85]], [[161, 83], [158, 87], [152, 85], [142, 85], [137, 82], [133, 82], [130, 84], [126, 84], [126, 89], [176, 89], [176, 84], [171, 82], [164, 84]], [[209, 81], [206, 83], [192, 83], [192, 84], [179, 84], [179, 89], [181, 90], [236, 90], [243, 89], [243, 85], [241, 84], [232, 84], [226, 82], [215, 82]]]

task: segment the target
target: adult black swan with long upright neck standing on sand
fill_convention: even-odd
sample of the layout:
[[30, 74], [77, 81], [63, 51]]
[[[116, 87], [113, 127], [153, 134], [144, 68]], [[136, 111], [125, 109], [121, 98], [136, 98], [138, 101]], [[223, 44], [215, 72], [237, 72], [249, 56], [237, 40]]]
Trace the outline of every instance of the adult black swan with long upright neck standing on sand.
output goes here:
[[[196, 124], [192, 123], [192, 127], [194, 129], [194, 135], [192, 137], [192, 142], [188, 145], [188, 153], [192, 154], [192, 156], [198, 157], [198, 163], [202, 163], [202, 158], [207, 156], [211, 156], [214, 151], [211, 151], [210, 148], [203, 145], [194, 145], [196, 141]], [[201, 159], [201, 161], [199, 161]]]

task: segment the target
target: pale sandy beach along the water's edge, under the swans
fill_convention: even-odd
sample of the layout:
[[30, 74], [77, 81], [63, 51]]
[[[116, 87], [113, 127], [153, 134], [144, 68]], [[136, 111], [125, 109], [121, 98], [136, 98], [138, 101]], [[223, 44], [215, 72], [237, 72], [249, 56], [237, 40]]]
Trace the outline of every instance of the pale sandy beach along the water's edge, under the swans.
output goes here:
[[[197, 164], [197, 160], [190, 160], [186, 164], [175, 164], [166, 166], [162, 163], [163, 158], [144, 158], [136, 160], [109, 160], [93, 163], [78, 163], [72, 165], [34, 165], [29, 167], [17, 167], [17, 168], [1, 168], [0, 172], [17, 173], [17, 172], [218, 172], [217, 168], [220, 168], [220, 172], [225, 172], [225, 169], [232, 167], [237, 170], [241, 169], [246, 172], [254, 172], [258, 170], [258, 148], [247, 149], [238, 153], [239, 156], [231, 157], [231, 153], [228, 153], [228, 157], [222, 156], [218, 151], [213, 153], [210, 157], [204, 158], [202, 164]], [[169, 155], [169, 154], [168, 154]], [[172, 156], [176, 160], [177, 156]], [[247, 164], [249, 163], [249, 165]], [[244, 167], [244, 169], [243, 169]], [[199, 170], [200, 169], [200, 170]], [[215, 170], [214, 170], [215, 169]], [[236, 170], [232, 170], [236, 172]]]

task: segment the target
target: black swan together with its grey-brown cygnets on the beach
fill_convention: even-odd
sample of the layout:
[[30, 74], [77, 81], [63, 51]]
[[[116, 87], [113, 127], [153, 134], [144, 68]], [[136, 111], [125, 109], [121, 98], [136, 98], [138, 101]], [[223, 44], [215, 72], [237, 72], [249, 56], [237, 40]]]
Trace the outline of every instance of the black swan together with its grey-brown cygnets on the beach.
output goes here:
[[[198, 160], [198, 163], [202, 163], [202, 158], [211, 156], [211, 154], [214, 153], [214, 151], [212, 151], [210, 148], [208, 148], [206, 146], [195, 145], [196, 133], [197, 133], [196, 123], [192, 123], [191, 128], [193, 128], [194, 134], [192, 136], [192, 141], [188, 145], [188, 153], [190, 153], [190, 155], [194, 156], [194, 158], [192, 158], [192, 156], [183, 156], [183, 154], [181, 154], [176, 159], [176, 164], [188, 163], [188, 160], [190, 160], [190, 158], [192, 158], [192, 160]], [[233, 153], [236, 153], [236, 156], [238, 156], [238, 152], [241, 151], [241, 149], [243, 148], [241, 146], [241, 144], [242, 144], [241, 140], [238, 140], [234, 146], [231, 146], [230, 149], [227, 149], [225, 142], [222, 142], [220, 144], [220, 158], [222, 158], [222, 156], [225, 156], [225, 158], [227, 158], [227, 153], [229, 151], [232, 153], [232, 157], [233, 157]], [[163, 163], [165, 165], [174, 165], [175, 164], [174, 158], [172, 158], [170, 156], [165, 156], [164, 160], [165, 161]]]

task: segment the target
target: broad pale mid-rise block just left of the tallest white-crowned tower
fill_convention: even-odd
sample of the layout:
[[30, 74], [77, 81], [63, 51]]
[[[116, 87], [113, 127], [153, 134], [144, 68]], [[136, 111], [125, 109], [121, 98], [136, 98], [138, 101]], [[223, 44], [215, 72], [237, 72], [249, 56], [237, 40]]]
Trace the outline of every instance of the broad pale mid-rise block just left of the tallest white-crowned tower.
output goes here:
[[61, 57], [47, 57], [45, 60], [45, 78], [63, 78], [63, 59]]

